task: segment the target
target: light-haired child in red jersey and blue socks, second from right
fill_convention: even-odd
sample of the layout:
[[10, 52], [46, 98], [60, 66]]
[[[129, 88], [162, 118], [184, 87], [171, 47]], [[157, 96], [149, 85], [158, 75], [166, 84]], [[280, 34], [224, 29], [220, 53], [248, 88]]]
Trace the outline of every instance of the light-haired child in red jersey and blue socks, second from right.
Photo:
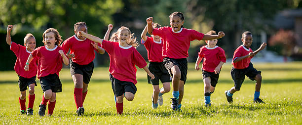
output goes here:
[[[215, 31], [209, 31], [209, 35], [217, 35]], [[217, 46], [217, 39], [206, 41], [208, 45], [200, 48], [195, 64], [195, 70], [199, 70], [199, 63], [203, 58], [202, 77], [204, 83], [204, 103], [211, 106], [211, 94], [218, 83], [219, 73], [222, 65], [226, 63], [225, 50]]]

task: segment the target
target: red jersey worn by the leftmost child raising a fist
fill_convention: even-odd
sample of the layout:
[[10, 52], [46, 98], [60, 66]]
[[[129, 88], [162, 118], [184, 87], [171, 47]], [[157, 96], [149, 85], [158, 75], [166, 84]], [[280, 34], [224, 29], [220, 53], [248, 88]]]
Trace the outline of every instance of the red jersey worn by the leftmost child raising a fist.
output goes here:
[[37, 74], [36, 58], [34, 58], [29, 65], [30, 70], [29, 71], [24, 70], [28, 56], [31, 54], [31, 52], [28, 51], [25, 46], [17, 44], [15, 42], [11, 42], [10, 50], [12, 50], [15, 53], [15, 55], [17, 56], [17, 60], [16, 60], [15, 67], [14, 67], [16, 73], [19, 76], [24, 77], [24, 78], [32, 78], [32, 77], [36, 76], [36, 74]]

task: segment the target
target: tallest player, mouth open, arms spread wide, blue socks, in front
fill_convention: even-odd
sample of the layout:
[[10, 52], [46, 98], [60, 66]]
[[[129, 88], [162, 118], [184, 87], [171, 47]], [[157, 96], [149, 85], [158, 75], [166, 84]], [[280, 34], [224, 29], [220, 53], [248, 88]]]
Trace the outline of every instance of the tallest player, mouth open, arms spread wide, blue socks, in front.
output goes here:
[[172, 76], [173, 98], [171, 108], [178, 110], [181, 108], [181, 102], [184, 96], [184, 85], [187, 80], [188, 50], [190, 42], [193, 40], [213, 40], [220, 39], [225, 36], [224, 32], [218, 35], [204, 35], [195, 30], [183, 27], [185, 22], [184, 14], [181, 12], [173, 12], [169, 16], [171, 27], [152, 27], [153, 17], [146, 19], [148, 23], [148, 33], [150, 35], [159, 36], [163, 39], [162, 55], [165, 57], [163, 63]]

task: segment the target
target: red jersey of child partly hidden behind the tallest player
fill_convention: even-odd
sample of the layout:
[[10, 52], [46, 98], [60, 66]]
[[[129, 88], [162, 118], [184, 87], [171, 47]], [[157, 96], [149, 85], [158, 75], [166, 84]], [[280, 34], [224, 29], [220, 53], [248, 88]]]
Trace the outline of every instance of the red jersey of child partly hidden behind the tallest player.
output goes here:
[[152, 37], [147, 37], [146, 42], [142, 39], [142, 44], [145, 45], [148, 52], [149, 62], [162, 62], [162, 40], [160, 42], [154, 41]]

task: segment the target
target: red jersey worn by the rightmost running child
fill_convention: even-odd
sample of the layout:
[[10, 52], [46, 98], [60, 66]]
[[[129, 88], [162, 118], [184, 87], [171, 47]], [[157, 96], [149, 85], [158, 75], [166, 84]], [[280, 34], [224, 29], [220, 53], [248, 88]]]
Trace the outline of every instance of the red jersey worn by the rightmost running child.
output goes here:
[[242, 59], [241, 61], [238, 61], [236, 63], [234, 63], [233, 61], [238, 57], [248, 55], [250, 52], [253, 52], [253, 50], [251, 48], [246, 48], [243, 45], [240, 45], [235, 50], [233, 60], [232, 60], [232, 64], [233, 64], [235, 69], [245, 69], [245, 68], [249, 67], [249, 64], [250, 64], [251, 59], [253, 58], [253, 56]]

